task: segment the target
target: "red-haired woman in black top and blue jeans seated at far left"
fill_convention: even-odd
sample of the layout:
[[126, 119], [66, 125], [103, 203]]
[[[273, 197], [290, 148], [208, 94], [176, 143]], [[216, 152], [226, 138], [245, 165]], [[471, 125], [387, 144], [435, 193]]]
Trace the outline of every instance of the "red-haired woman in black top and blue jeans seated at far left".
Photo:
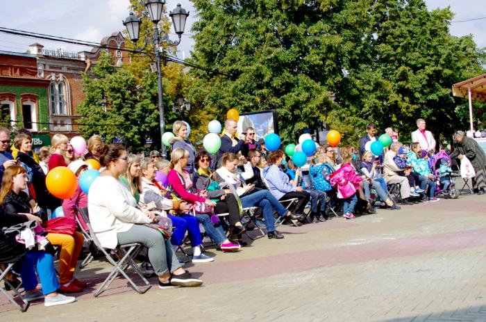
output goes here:
[[[0, 225], [10, 227], [29, 220], [36, 221], [39, 225], [46, 214], [39, 206], [31, 208], [28, 204], [30, 198], [23, 192], [28, 183], [26, 170], [21, 166], [10, 166], [3, 172], [0, 189]], [[83, 245], [81, 243], [81, 245]], [[25, 246], [22, 246], [25, 250]], [[12, 248], [14, 251], [15, 248]], [[62, 255], [61, 255], [62, 265]], [[54, 258], [48, 252], [31, 250], [20, 261], [20, 276], [26, 291], [25, 300], [38, 300], [44, 298], [45, 306], [62, 305], [72, 303], [76, 298], [63, 296], [58, 293], [59, 280], [54, 269]], [[36, 270], [34, 270], [34, 266]], [[62, 268], [62, 266], [61, 266]], [[37, 276], [40, 277], [42, 292], [37, 290]], [[65, 270], [60, 272], [65, 274]], [[68, 272], [69, 273], [69, 272]], [[74, 271], [73, 271], [74, 273]]]

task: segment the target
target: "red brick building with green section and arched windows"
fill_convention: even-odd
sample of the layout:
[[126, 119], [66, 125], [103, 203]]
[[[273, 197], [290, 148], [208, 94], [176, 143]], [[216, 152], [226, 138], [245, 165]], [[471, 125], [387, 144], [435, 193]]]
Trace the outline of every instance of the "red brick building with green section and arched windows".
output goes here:
[[91, 51], [49, 50], [37, 42], [29, 54], [0, 51], [1, 120], [10, 119], [12, 128], [31, 129], [34, 137], [44, 134], [43, 144], [45, 134], [78, 135], [76, 108], [85, 97], [83, 72], [96, 64], [103, 49], [117, 66], [127, 63], [124, 47], [124, 36], [117, 32]]

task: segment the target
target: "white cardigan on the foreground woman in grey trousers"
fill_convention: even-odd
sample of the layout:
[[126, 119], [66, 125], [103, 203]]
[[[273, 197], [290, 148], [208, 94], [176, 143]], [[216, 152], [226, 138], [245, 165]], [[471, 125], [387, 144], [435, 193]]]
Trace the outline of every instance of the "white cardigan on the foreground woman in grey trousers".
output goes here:
[[110, 176], [94, 179], [87, 196], [87, 209], [92, 230], [105, 248], [116, 248], [117, 233], [126, 232], [134, 223], [151, 223], [150, 218], [137, 208], [128, 187]]

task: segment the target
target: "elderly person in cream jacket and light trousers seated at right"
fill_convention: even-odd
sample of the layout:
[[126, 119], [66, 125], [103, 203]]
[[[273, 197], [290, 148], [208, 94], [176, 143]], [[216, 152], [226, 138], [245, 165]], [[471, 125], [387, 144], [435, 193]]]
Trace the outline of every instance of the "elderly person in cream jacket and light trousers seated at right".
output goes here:
[[385, 159], [383, 160], [383, 177], [387, 181], [387, 184], [400, 184], [401, 202], [403, 204], [412, 204], [408, 201], [410, 197], [410, 184], [408, 183], [408, 179], [399, 175], [404, 169], [396, 166], [396, 163], [393, 161], [401, 145], [399, 142], [394, 142], [390, 145], [389, 151], [385, 154]]

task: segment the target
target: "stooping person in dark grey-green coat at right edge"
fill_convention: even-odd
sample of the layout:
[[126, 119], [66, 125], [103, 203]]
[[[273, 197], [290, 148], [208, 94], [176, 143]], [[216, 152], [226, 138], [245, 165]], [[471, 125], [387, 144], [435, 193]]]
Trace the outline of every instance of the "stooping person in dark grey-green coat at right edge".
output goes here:
[[458, 142], [454, 152], [451, 153], [451, 159], [457, 157], [462, 160], [464, 156], [471, 161], [476, 172], [473, 179], [474, 193], [483, 195], [486, 188], [486, 156], [485, 152], [478, 145], [474, 138], [468, 138], [463, 131], [457, 131], [454, 134], [454, 140]]

